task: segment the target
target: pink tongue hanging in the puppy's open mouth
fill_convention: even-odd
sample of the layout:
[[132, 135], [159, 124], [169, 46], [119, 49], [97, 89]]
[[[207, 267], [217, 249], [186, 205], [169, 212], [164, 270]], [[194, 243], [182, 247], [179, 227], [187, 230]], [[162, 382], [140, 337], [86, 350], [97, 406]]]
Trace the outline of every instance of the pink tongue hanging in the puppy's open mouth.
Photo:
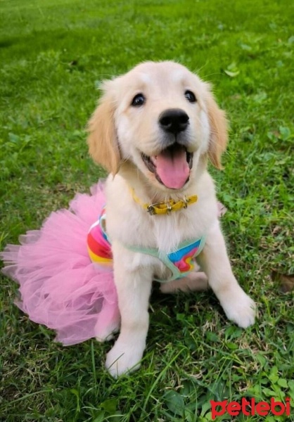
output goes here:
[[182, 188], [190, 173], [185, 148], [162, 151], [156, 157], [156, 172], [167, 188]]

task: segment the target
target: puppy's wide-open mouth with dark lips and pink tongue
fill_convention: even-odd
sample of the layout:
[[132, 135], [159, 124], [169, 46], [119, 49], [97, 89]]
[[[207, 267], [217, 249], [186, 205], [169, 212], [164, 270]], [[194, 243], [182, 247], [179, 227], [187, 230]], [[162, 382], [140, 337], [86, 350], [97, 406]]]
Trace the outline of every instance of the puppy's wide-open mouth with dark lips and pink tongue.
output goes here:
[[177, 142], [158, 155], [148, 157], [141, 153], [141, 157], [148, 170], [167, 188], [180, 189], [189, 179], [193, 153], [188, 153], [186, 148]]

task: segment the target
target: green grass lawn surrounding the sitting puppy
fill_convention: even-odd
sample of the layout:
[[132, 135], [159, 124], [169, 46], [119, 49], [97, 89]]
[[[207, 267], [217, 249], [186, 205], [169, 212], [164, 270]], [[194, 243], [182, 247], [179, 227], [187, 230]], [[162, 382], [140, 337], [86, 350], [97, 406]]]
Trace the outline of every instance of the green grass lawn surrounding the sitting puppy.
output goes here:
[[[104, 175], [84, 127], [101, 79], [141, 60], [178, 60], [212, 82], [231, 122], [224, 172], [212, 169], [234, 272], [259, 307], [226, 320], [212, 293], [151, 298], [141, 369], [113, 380], [111, 344], [72, 347], [19, 311], [1, 276], [0, 420], [212, 420], [210, 399], [291, 398], [294, 273], [294, 4], [290, 0], [0, 0], [0, 249]], [[224, 414], [217, 421], [231, 421]]]

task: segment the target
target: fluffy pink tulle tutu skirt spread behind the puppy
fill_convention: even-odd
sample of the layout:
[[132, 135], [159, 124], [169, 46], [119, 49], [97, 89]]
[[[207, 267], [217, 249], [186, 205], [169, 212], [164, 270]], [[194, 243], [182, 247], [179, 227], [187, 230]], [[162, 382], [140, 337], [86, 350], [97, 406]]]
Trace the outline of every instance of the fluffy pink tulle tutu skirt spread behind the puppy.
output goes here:
[[[103, 184], [78, 193], [69, 210], [52, 212], [40, 230], [20, 236], [0, 256], [4, 274], [20, 284], [16, 305], [30, 319], [56, 330], [56, 341], [74, 345], [95, 337], [97, 326], [119, 318], [112, 268], [89, 258], [87, 234], [105, 205]], [[99, 330], [100, 331], [100, 330]]]

